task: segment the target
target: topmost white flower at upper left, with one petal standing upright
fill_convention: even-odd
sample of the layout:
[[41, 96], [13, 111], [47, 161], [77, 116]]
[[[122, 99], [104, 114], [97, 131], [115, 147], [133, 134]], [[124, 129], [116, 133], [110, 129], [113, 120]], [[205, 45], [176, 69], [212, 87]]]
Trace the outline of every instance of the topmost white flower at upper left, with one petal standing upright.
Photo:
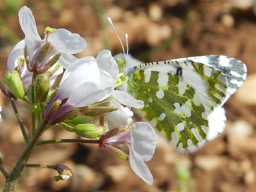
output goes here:
[[[26, 58], [28, 69], [36, 68], [38, 72], [43, 72], [44, 67], [56, 54], [60, 53], [61, 56], [58, 59], [58, 63], [61, 65], [60, 69], [51, 77], [51, 85], [54, 83], [56, 76], [62, 73], [63, 68], [67, 68], [76, 58], [71, 54], [81, 52], [86, 47], [86, 42], [78, 34], [72, 34], [66, 29], [56, 29], [52, 33], [46, 33], [42, 40], [37, 32], [36, 22], [31, 10], [24, 6], [19, 11], [20, 26], [25, 34], [25, 39], [21, 40], [14, 46], [7, 61], [8, 70], [14, 70], [18, 66], [18, 58], [24, 58], [24, 47], [26, 45], [28, 49], [29, 58]], [[43, 54], [43, 58], [38, 61], [38, 54], [42, 46], [50, 42], [50, 48], [48, 52]], [[32, 80], [32, 71], [28, 71], [27, 67], [24, 67], [21, 72], [21, 77], [24, 80], [24, 86], [28, 88]], [[47, 69], [47, 68], [46, 68]]]

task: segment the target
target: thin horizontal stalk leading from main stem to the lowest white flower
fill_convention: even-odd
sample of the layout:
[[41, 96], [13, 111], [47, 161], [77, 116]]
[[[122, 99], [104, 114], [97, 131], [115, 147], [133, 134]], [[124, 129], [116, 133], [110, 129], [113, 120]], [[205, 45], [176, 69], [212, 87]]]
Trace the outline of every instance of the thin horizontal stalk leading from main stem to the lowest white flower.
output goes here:
[[45, 140], [45, 141], [38, 141], [36, 146], [45, 145], [45, 144], [52, 144], [52, 143], [94, 143], [100, 144], [100, 140], [86, 140], [86, 139], [52, 139], [52, 140]]

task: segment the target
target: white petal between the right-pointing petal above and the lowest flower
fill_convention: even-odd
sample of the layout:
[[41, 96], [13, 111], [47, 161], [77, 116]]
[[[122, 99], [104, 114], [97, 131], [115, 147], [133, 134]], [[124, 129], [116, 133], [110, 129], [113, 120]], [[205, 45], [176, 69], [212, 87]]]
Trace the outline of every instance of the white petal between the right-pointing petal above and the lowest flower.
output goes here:
[[117, 100], [111, 99], [110, 106], [116, 107], [118, 110], [107, 113], [105, 116], [109, 130], [118, 126], [129, 125], [132, 123], [132, 118], [126, 114], [126, 112], [124, 112], [123, 108]]

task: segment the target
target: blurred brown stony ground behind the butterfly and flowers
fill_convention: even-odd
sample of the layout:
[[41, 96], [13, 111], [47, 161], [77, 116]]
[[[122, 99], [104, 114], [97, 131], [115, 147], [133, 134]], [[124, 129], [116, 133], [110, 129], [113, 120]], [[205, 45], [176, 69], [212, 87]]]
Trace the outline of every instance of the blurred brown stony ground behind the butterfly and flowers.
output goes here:
[[[103, 49], [112, 54], [122, 47], [110, 16], [130, 53], [153, 62], [188, 56], [221, 54], [242, 60], [248, 68], [244, 85], [226, 102], [226, 129], [194, 154], [177, 154], [163, 140], [147, 162], [154, 177], [152, 186], [141, 180], [116, 156], [95, 144], [50, 144], [34, 150], [29, 163], [62, 163], [73, 170], [69, 180], [54, 182], [56, 171], [25, 168], [17, 192], [87, 191], [256, 191], [256, 4], [254, 0], [1, 0], [0, 78], [13, 46], [24, 39], [18, 10], [28, 6], [43, 38], [46, 26], [66, 28], [82, 36], [88, 46], [75, 56], [96, 56]], [[124, 43], [124, 41], [123, 41]], [[23, 122], [30, 126], [29, 107], [17, 101]], [[8, 100], [0, 94], [3, 122], [0, 124], [0, 156], [10, 172], [24, 141]], [[55, 126], [42, 139], [77, 138]], [[0, 187], [4, 186], [0, 175]], [[0, 190], [1, 191], [1, 190]]]

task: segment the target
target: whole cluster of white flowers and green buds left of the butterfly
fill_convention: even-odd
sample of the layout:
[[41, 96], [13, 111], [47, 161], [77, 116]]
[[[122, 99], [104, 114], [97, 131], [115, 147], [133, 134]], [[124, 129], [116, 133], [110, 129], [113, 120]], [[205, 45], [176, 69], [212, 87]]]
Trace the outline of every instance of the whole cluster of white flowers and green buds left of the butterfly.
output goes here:
[[[82, 137], [100, 137], [100, 148], [122, 160], [130, 160], [134, 172], [152, 184], [153, 177], [144, 162], [154, 154], [156, 134], [145, 122], [130, 126], [131, 107], [140, 109], [144, 104], [116, 89], [126, 84], [127, 77], [119, 72], [111, 52], [102, 50], [96, 58], [78, 59], [72, 54], [87, 46], [78, 34], [47, 27], [41, 39], [31, 10], [24, 6], [18, 15], [25, 38], [14, 46], [8, 57], [8, 91], [2, 87], [1, 90], [9, 98], [26, 101], [37, 114], [42, 124], [34, 131], [41, 132], [33, 133], [32, 139], [38, 139], [46, 127], [55, 124]], [[52, 89], [63, 69], [58, 88]], [[122, 152], [120, 146], [127, 146], [129, 155]]]

